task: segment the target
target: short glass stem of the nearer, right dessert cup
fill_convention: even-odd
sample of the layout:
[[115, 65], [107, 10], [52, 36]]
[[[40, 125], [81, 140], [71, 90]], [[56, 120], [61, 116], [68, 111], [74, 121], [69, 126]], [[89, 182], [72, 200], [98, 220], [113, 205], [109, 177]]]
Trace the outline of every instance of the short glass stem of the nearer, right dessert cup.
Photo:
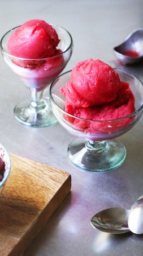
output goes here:
[[87, 150], [91, 151], [93, 154], [97, 154], [99, 152], [105, 152], [107, 149], [106, 141], [86, 141], [85, 147]]

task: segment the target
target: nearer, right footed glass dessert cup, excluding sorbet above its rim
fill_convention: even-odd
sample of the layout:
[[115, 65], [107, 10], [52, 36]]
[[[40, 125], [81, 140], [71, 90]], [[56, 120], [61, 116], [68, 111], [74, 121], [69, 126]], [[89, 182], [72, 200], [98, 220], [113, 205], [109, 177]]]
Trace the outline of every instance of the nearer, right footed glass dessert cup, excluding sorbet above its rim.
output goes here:
[[135, 97], [135, 112], [119, 119], [92, 121], [64, 111], [66, 98], [59, 89], [70, 81], [71, 71], [63, 73], [50, 86], [50, 104], [55, 117], [77, 137], [68, 146], [68, 157], [75, 166], [87, 171], [104, 172], [120, 167], [126, 156], [124, 145], [116, 139], [136, 125], [143, 112], [143, 86], [135, 76], [115, 69], [120, 80], [128, 82]]

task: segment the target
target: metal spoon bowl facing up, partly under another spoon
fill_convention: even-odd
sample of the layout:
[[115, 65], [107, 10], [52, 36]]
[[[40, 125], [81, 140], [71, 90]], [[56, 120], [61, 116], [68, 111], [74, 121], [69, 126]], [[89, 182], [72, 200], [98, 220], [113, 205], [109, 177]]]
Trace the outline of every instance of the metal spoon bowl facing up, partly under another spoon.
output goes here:
[[129, 210], [114, 207], [102, 210], [95, 214], [90, 223], [93, 228], [112, 234], [121, 234], [129, 232], [128, 228]]

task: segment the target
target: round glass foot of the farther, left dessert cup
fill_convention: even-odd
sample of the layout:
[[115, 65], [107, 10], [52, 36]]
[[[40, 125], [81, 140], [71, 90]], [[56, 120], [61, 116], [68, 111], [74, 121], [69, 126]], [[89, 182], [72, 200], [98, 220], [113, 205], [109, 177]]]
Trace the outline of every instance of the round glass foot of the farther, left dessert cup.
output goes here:
[[14, 108], [15, 118], [23, 125], [45, 127], [58, 123], [51, 112], [49, 101], [42, 100], [37, 106], [35, 102], [23, 101]]

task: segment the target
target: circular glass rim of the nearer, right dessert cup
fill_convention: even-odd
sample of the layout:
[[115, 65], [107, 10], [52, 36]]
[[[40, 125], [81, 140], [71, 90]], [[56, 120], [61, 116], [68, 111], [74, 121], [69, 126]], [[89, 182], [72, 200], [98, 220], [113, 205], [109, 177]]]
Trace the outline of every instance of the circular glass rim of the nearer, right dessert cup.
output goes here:
[[[135, 77], [135, 78], [142, 84], [142, 86], [143, 86], [143, 83], [141, 82], [141, 80], [138, 79], [135, 75], [132, 75], [131, 73], [126, 72], [126, 71], [123, 71], [122, 69], [118, 69], [118, 68], [114, 68], [114, 70], [121, 71], [121, 72], [123, 72], [123, 73], [128, 74], [129, 76]], [[137, 109], [137, 110], [136, 110], [135, 112], [133, 112], [132, 114], [125, 115], [125, 117], [121, 117], [121, 118], [117, 118], [117, 119], [110, 119], [110, 120], [90, 120], [90, 119], [84, 119], [84, 118], [76, 117], [75, 115], [69, 114], [68, 112], [64, 111], [63, 109], [61, 109], [61, 108], [57, 105], [57, 103], [54, 101], [54, 99], [53, 99], [53, 97], [52, 97], [51, 90], [52, 90], [52, 88], [53, 88], [53, 86], [54, 86], [55, 81], [58, 80], [60, 76], [63, 76], [63, 75], [65, 75], [66, 73], [70, 73], [71, 71], [72, 71], [72, 70], [67, 71], [67, 72], [64, 72], [64, 73], [60, 74], [59, 76], [55, 77], [55, 79], [53, 80], [53, 82], [51, 82], [50, 90], [49, 90], [49, 94], [50, 94], [51, 100], [52, 100], [53, 103], [57, 106], [57, 108], [60, 109], [60, 111], [62, 111], [64, 114], [69, 115], [70, 117], [74, 117], [74, 118], [77, 118], [77, 119], [80, 119], [80, 120], [90, 121], [90, 122], [113, 122], [113, 121], [119, 121], [119, 120], [123, 120], [123, 119], [125, 119], [125, 118], [132, 117], [133, 115], [135, 115], [135, 114], [137, 114], [138, 112], [140, 112], [141, 109], [143, 109], [143, 103], [142, 103], [142, 105], [140, 106], [140, 108]]]

